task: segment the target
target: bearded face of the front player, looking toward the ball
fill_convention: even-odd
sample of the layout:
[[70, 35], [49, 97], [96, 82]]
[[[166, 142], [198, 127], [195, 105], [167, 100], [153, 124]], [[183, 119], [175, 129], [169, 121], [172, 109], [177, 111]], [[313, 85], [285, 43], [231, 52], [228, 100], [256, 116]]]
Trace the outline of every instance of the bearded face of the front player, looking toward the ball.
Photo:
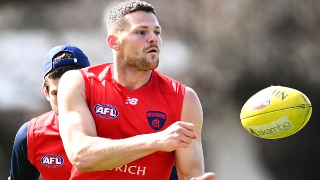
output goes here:
[[125, 64], [136, 70], [158, 67], [162, 44], [161, 28], [151, 12], [136, 11], [125, 16], [127, 24], [119, 32], [119, 56]]

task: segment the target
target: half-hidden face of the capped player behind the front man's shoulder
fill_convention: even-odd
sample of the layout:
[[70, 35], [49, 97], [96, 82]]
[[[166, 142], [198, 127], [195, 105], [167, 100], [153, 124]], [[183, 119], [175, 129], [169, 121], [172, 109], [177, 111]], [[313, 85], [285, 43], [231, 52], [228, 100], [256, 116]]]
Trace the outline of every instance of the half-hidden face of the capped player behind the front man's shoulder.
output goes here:
[[[47, 100], [50, 102], [52, 110], [58, 115], [58, 103], [57, 103], [57, 93], [58, 93], [58, 84], [59, 84], [59, 79], [48, 79], [48, 90], [45, 88], [44, 94], [47, 98]], [[43, 87], [42, 87], [43, 88]]]

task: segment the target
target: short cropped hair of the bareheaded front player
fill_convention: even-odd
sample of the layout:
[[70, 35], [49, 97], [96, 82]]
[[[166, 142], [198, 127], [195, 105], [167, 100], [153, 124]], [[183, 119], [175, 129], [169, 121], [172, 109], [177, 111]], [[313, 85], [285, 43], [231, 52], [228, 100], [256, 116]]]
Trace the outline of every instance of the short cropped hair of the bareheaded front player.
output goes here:
[[107, 26], [114, 29], [115, 32], [123, 30], [126, 25], [125, 16], [135, 11], [152, 12], [156, 15], [153, 6], [141, 0], [126, 0], [116, 5], [110, 12]]

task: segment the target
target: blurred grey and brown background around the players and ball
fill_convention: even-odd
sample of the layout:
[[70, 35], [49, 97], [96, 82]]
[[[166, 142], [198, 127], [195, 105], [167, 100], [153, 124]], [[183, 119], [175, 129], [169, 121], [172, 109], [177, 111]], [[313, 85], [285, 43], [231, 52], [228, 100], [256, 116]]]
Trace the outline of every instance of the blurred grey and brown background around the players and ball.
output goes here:
[[[92, 65], [112, 61], [106, 16], [118, 2], [0, 0], [0, 179], [19, 127], [50, 110], [40, 86], [45, 54], [73, 44]], [[201, 100], [206, 171], [215, 180], [319, 180], [320, 1], [147, 2], [162, 27], [160, 71]], [[270, 85], [300, 90], [313, 105], [288, 138], [259, 139], [240, 123], [242, 105]]]

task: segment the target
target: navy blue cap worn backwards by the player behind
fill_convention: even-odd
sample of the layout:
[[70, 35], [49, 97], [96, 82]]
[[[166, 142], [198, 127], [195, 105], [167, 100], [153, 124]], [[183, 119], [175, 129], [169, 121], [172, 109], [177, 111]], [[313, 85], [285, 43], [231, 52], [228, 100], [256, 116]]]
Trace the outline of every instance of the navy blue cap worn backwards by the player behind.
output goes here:
[[[60, 52], [69, 52], [73, 55], [73, 58], [65, 58], [58, 61], [53, 61], [54, 57]], [[72, 45], [60, 45], [52, 48], [46, 55], [43, 61], [43, 79], [46, 75], [54, 68], [68, 65], [76, 64], [81, 67], [90, 66], [88, 57], [81, 51], [81, 49]]]

